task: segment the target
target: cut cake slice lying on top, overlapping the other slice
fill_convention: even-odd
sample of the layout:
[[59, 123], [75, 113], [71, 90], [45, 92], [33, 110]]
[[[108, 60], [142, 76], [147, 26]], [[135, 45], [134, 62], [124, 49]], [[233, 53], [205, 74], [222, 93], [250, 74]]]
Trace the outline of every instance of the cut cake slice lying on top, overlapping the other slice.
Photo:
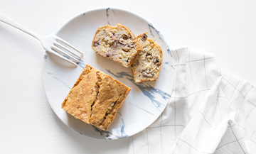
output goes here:
[[116, 26], [102, 26], [97, 28], [92, 40], [92, 50], [95, 53], [119, 62], [129, 67], [135, 62], [142, 45], [129, 28], [117, 23]]

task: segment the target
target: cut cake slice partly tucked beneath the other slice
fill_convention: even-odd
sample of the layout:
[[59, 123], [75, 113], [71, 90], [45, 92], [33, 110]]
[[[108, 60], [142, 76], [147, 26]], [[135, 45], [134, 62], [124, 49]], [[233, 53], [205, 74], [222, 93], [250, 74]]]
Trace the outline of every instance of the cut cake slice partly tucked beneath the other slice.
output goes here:
[[163, 60], [161, 47], [154, 40], [149, 39], [146, 33], [138, 35], [137, 39], [142, 44], [143, 51], [131, 66], [134, 81], [155, 81], [159, 76]]

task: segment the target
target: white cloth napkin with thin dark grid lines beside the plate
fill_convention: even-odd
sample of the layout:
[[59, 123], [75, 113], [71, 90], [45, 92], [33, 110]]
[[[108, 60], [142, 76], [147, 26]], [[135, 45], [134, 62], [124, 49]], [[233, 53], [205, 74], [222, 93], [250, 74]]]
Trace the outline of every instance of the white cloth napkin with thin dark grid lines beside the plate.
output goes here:
[[171, 52], [176, 79], [169, 104], [131, 137], [128, 154], [256, 153], [255, 87], [220, 70], [212, 53]]

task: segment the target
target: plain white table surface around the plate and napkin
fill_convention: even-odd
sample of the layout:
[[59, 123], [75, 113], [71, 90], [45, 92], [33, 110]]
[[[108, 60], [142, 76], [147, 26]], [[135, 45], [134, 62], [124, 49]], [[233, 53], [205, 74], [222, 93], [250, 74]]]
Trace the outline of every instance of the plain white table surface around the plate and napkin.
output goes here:
[[[146, 18], [171, 49], [214, 53], [222, 69], [256, 85], [256, 1], [0, 0], [0, 13], [41, 35], [107, 7]], [[58, 119], [43, 89], [38, 40], [0, 23], [0, 54], [0, 153], [126, 153], [129, 138], [97, 141]]]

